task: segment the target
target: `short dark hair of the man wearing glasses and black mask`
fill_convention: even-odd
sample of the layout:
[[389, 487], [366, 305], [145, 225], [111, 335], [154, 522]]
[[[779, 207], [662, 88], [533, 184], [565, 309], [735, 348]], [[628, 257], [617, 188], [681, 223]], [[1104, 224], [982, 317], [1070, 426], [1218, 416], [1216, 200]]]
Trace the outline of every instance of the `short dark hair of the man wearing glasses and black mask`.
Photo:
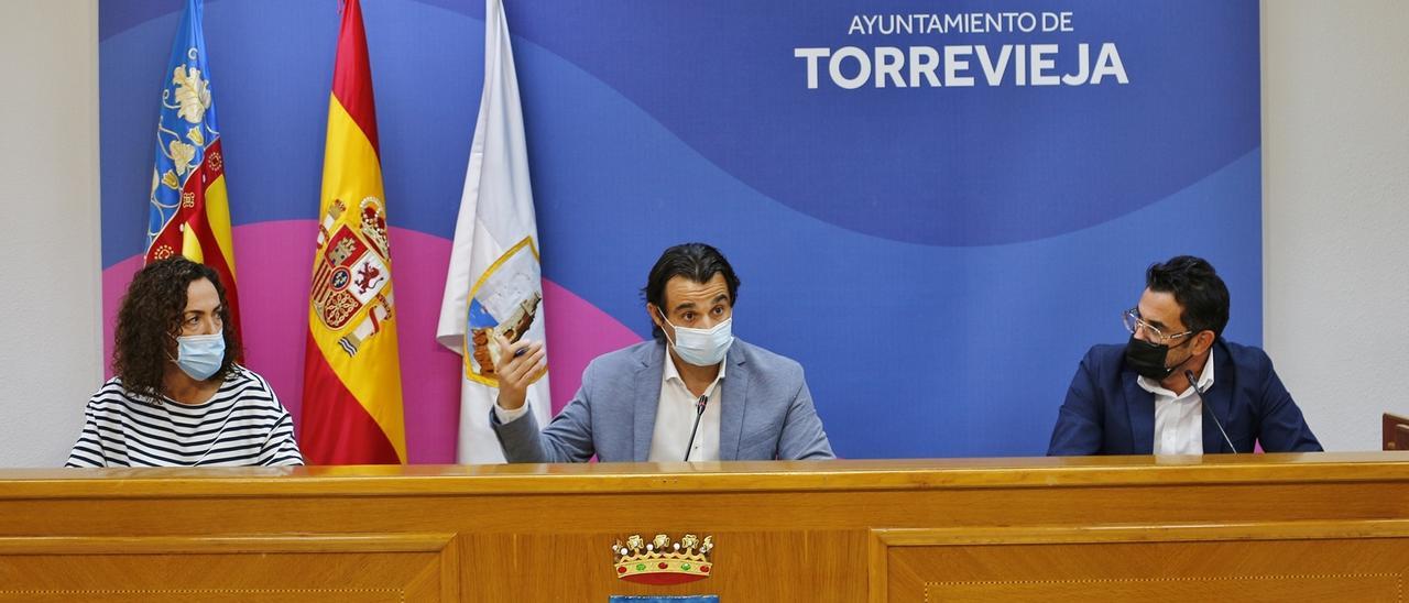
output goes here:
[[1223, 337], [1223, 327], [1229, 324], [1229, 287], [1203, 258], [1181, 255], [1164, 263], [1151, 263], [1146, 271], [1146, 287], [1172, 293], [1186, 328]]

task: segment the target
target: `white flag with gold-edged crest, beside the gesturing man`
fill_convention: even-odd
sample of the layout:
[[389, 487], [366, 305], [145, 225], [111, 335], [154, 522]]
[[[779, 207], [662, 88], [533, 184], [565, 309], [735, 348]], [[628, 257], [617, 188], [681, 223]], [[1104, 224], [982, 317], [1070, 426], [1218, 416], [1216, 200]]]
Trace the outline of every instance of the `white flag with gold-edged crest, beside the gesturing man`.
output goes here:
[[[435, 330], [435, 340], [464, 358], [457, 454], [461, 464], [504, 462], [489, 427], [499, 393], [495, 334], [509, 341], [542, 341], [545, 332], [519, 77], [504, 7], [500, 0], [486, 0], [485, 92]], [[538, 424], [548, 424], [547, 371], [528, 387], [528, 404]]]

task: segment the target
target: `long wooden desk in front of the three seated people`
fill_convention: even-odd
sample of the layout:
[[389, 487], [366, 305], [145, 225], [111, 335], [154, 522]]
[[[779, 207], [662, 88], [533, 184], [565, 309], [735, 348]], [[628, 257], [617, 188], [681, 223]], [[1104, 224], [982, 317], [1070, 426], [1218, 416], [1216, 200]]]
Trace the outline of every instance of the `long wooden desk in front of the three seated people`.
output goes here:
[[[616, 578], [631, 534], [712, 575]], [[0, 602], [1385, 600], [1409, 452], [0, 471]]]

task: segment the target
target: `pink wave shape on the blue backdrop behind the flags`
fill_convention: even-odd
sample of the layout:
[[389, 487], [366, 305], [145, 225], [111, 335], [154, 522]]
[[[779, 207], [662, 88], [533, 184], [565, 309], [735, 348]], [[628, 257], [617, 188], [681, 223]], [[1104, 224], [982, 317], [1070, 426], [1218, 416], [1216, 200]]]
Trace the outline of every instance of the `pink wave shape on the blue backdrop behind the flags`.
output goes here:
[[[269, 380], [294, 421], [303, 400], [303, 342], [317, 223], [286, 220], [234, 228], [235, 275], [244, 316], [245, 363]], [[455, 462], [459, 424], [459, 355], [435, 342], [451, 242], [404, 228], [390, 230], [406, 411], [406, 448], [413, 464]], [[103, 271], [103, 341], [111, 356], [117, 307], [141, 255]], [[552, 411], [582, 383], [593, 358], [641, 338], [571, 290], [544, 279]], [[111, 376], [111, 366], [106, 366]]]

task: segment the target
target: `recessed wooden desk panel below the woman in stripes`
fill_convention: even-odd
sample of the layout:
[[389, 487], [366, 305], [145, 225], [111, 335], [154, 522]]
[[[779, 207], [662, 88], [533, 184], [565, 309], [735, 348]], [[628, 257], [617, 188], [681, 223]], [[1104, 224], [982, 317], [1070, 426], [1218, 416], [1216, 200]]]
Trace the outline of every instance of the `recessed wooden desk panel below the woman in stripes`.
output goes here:
[[0, 602], [458, 600], [440, 534], [0, 538]]

